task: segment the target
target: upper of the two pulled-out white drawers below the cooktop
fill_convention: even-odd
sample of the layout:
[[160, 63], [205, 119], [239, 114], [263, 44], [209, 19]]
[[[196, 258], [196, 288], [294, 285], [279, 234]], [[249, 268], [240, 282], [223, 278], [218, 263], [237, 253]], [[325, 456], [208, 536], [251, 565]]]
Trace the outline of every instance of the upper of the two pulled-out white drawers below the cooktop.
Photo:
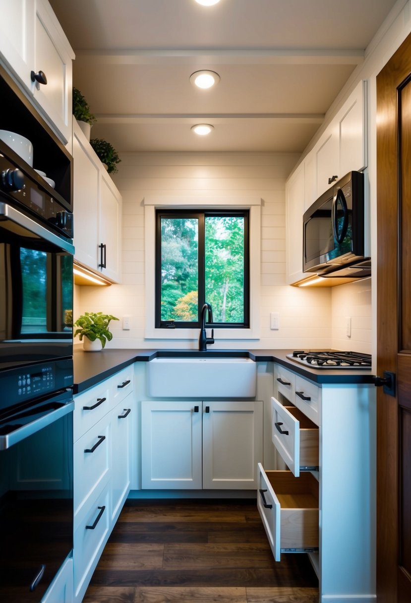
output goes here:
[[295, 406], [272, 405], [272, 442], [296, 478], [300, 469], [318, 470], [318, 426]]

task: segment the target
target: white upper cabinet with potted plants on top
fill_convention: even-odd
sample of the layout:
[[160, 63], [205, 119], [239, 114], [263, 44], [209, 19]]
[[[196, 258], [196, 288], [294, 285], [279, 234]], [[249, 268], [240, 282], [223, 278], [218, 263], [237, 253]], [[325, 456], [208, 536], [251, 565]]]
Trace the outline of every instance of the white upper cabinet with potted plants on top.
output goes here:
[[122, 198], [73, 120], [74, 258], [119, 283]]

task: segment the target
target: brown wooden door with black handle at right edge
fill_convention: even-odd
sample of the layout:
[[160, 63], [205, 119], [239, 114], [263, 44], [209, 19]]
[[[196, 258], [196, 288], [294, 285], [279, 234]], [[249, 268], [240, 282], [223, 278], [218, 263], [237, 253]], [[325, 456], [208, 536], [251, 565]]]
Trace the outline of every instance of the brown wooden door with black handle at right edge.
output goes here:
[[411, 601], [411, 36], [377, 77], [377, 601]]

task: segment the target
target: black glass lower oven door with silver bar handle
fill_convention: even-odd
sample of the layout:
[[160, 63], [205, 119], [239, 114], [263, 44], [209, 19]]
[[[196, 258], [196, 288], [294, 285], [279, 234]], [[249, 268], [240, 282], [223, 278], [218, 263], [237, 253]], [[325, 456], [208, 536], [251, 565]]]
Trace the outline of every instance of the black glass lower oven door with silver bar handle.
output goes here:
[[39, 603], [71, 552], [73, 408], [64, 390], [0, 415], [0, 601]]

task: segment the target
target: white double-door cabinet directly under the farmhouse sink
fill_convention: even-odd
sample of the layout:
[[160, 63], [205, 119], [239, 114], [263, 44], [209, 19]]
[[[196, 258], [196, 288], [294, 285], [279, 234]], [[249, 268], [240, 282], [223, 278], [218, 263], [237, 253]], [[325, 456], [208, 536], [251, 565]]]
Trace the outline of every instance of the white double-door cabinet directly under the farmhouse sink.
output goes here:
[[256, 489], [263, 402], [142, 402], [142, 488]]

